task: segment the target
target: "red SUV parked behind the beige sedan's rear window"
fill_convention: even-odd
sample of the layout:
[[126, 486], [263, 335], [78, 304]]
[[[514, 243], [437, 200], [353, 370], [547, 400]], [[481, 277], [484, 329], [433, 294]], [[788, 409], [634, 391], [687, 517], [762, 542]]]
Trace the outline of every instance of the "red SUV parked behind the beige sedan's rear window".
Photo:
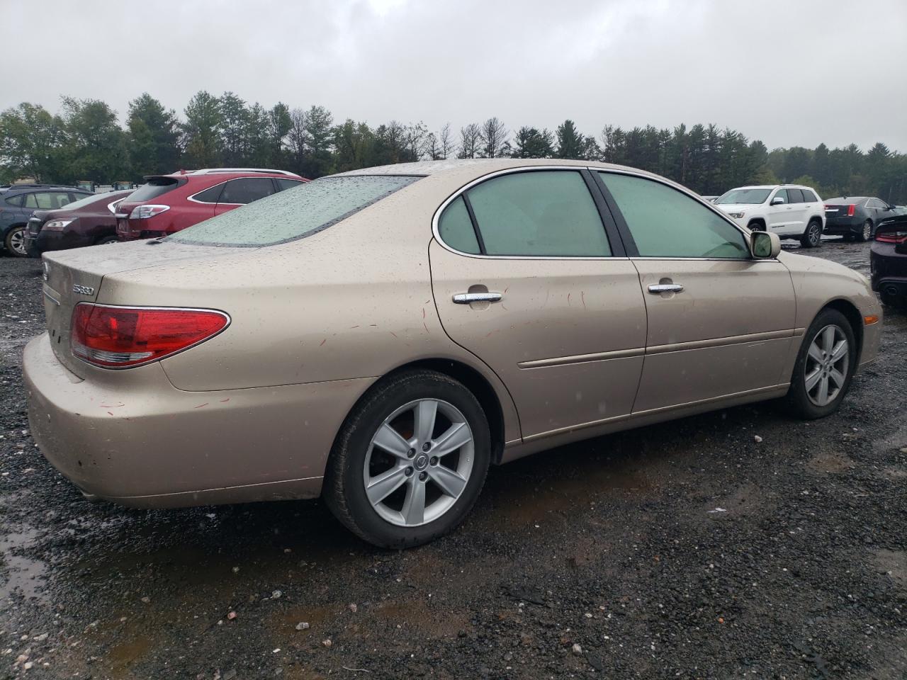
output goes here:
[[116, 237], [121, 241], [167, 236], [308, 181], [284, 170], [252, 168], [180, 170], [145, 180], [118, 207]]

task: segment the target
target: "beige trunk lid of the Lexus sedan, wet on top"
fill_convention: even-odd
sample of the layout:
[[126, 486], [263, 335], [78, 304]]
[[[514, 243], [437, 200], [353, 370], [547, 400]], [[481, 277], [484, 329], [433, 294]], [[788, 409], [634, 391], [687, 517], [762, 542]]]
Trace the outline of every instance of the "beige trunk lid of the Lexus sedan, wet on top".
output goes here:
[[[51, 346], [60, 363], [79, 377], [87, 364], [70, 351], [73, 309], [80, 302], [95, 302], [103, 279], [116, 272], [168, 265], [178, 261], [207, 260], [235, 254], [233, 248], [190, 246], [160, 241], [134, 241], [115, 246], [76, 248], [44, 253], [44, 316]], [[118, 301], [128, 305], [128, 300]]]

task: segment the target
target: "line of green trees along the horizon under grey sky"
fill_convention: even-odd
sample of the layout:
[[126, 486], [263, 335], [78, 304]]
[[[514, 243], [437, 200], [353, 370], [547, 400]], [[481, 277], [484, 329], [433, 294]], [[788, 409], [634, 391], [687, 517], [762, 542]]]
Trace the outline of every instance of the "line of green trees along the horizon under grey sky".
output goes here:
[[744, 184], [792, 182], [825, 198], [879, 196], [907, 202], [907, 155], [882, 142], [829, 149], [769, 151], [762, 141], [714, 124], [624, 130], [605, 125], [598, 136], [565, 120], [553, 131], [524, 125], [510, 131], [492, 117], [458, 131], [430, 131], [422, 122], [334, 120], [323, 106], [270, 108], [234, 92], [198, 92], [182, 115], [150, 94], [129, 102], [123, 127], [107, 103], [63, 97], [60, 111], [23, 102], [0, 113], [0, 181], [33, 178], [72, 184], [139, 181], [184, 168], [262, 167], [317, 178], [410, 160], [448, 158], [604, 160], [650, 170], [701, 194]]

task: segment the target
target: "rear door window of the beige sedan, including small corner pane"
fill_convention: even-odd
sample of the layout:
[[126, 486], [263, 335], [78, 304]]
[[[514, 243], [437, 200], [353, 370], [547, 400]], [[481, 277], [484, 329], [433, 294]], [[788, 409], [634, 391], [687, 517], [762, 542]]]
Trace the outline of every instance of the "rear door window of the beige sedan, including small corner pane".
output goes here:
[[[576, 170], [532, 170], [486, 180], [466, 192], [485, 255], [608, 257], [608, 237], [586, 181]], [[463, 208], [450, 224], [468, 241]], [[446, 212], [446, 210], [445, 210]], [[453, 214], [456, 213], [456, 214]], [[445, 216], [443, 216], [445, 217]], [[445, 225], [448, 220], [444, 219]], [[451, 227], [453, 229], [453, 227]], [[467, 248], [475, 248], [472, 242]]]

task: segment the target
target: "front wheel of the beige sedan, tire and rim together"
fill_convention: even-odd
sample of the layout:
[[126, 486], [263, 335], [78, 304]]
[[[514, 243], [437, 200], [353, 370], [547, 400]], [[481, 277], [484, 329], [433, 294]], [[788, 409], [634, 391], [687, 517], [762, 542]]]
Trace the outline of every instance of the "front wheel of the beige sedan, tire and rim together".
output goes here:
[[824, 309], [806, 330], [787, 393], [790, 410], [805, 420], [838, 410], [856, 371], [856, 339], [847, 318]]

